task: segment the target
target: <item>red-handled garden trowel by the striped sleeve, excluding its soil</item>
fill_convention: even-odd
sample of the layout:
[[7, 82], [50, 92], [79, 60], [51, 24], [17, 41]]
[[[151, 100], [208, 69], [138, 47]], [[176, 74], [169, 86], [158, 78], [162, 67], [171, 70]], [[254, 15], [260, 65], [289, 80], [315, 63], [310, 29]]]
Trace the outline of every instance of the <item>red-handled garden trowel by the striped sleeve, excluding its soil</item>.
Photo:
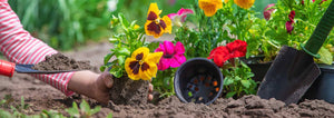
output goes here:
[[32, 69], [33, 65], [21, 65], [13, 63], [4, 60], [0, 60], [0, 75], [12, 77], [13, 72], [20, 73], [58, 73], [58, 72], [69, 72], [77, 70], [35, 70]]

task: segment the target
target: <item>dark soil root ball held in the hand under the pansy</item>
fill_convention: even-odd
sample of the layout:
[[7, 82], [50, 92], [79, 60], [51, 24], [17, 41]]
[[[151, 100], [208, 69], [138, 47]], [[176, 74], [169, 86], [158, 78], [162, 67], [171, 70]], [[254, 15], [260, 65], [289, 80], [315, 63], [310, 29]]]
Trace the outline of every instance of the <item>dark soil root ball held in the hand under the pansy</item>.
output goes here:
[[132, 80], [128, 77], [115, 78], [109, 90], [110, 100], [116, 105], [147, 104], [149, 81]]

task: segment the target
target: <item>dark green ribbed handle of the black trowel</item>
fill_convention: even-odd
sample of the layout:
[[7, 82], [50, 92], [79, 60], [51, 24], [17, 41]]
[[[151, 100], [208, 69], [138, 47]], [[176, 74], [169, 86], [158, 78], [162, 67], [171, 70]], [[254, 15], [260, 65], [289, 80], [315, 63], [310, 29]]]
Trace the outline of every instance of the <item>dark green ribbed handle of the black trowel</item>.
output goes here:
[[314, 32], [312, 33], [306, 45], [305, 46], [302, 45], [302, 49], [305, 52], [310, 53], [311, 56], [320, 58], [317, 51], [325, 42], [333, 26], [334, 26], [334, 0], [331, 2], [326, 12], [322, 17], [321, 21], [317, 23]]

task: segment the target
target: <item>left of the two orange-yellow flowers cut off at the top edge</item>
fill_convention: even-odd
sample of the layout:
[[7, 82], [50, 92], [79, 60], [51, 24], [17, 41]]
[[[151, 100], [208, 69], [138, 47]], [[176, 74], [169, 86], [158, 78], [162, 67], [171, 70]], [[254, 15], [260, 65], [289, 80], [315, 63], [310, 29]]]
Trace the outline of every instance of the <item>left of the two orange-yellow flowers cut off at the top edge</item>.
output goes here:
[[198, 6], [206, 17], [213, 17], [218, 9], [223, 8], [222, 0], [198, 0]]

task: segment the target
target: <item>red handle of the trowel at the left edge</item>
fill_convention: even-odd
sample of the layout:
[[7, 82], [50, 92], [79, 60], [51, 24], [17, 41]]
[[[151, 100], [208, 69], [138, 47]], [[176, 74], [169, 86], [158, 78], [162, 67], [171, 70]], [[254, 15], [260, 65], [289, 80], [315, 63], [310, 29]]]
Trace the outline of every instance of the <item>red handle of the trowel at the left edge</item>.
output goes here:
[[14, 70], [16, 70], [16, 63], [0, 60], [0, 75], [12, 77]]

